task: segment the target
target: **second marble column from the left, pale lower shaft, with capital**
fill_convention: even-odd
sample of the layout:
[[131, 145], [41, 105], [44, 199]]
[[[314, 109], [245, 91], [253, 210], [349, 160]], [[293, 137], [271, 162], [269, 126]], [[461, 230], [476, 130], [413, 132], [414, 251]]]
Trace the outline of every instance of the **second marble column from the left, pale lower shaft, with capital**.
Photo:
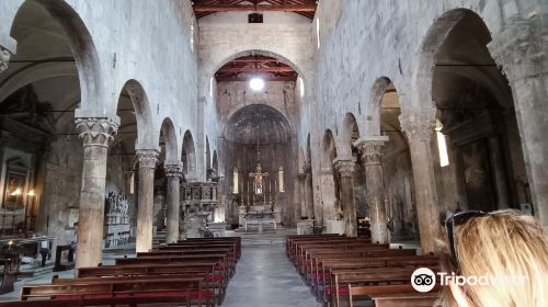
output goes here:
[[139, 197], [137, 206], [137, 252], [152, 248], [152, 218], [155, 207], [155, 170], [159, 152], [156, 149], [138, 149]]

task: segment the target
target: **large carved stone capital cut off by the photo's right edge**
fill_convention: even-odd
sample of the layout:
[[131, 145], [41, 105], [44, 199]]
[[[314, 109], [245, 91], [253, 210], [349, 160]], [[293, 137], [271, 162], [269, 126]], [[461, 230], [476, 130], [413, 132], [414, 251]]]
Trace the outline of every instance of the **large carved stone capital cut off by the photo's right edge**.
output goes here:
[[496, 34], [488, 48], [510, 81], [548, 72], [548, 30], [545, 25], [518, 20]]

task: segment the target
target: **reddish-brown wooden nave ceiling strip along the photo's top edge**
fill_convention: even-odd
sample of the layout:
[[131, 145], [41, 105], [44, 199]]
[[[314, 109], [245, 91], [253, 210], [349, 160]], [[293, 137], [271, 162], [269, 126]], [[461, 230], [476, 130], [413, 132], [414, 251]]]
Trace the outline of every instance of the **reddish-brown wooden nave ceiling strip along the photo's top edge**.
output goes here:
[[192, 0], [196, 18], [217, 12], [294, 12], [313, 19], [316, 0]]

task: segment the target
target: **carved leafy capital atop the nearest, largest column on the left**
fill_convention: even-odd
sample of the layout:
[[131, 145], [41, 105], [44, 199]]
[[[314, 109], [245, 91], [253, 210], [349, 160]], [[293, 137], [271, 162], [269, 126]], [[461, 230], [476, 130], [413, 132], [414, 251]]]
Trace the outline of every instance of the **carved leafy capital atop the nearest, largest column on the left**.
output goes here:
[[110, 118], [76, 118], [76, 128], [83, 139], [83, 146], [109, 147], [118, 130], [118, 124]]

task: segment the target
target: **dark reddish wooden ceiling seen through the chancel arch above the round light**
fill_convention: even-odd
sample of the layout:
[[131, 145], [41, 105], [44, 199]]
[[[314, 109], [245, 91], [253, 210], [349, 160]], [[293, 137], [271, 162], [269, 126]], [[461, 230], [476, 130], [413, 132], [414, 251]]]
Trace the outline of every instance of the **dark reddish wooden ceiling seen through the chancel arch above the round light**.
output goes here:
[[215, 73], [217, 82], [247, 81], [261, 77], [265, 81], [296, 81], [297, 71], [276, 58], [265, 56], [244, 56], [222, 66]]

